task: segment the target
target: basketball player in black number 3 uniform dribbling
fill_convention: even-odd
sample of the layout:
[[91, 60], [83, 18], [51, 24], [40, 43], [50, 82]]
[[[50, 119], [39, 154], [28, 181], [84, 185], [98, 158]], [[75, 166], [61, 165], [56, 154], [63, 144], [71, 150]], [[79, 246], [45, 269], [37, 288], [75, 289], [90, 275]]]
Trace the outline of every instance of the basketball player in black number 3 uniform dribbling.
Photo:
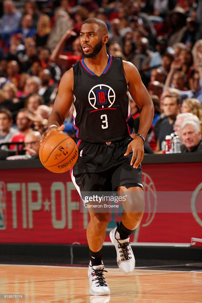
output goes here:
[[[108, 55], [107, 42], [104, 22], [97, 18], [83, 22], [80, 43], [84, 59], [61, 78], [44, 138], [64, 129], [63, 122], [74, 102], [73, 131], [80, 156], [70, 173], [78, 192], [118, 190], [138, 194], [143, 192], [141, 161], [144, 138], [154, 116], [153, 103], [137, 68], [120, 57]], [[128, 90], [140, 108], [140, 126], [134, 139], [130, 137], [133, 118]], [[91, 212], [90, 216], [87, 228], [90, 293], [109, 295], [102, 261], [109, 213]], [[124, 273], [134, 269], [129, 235], [142, 216], [143, 212], [122, 213], [120, 225], [110, 233], [118, 266]]]

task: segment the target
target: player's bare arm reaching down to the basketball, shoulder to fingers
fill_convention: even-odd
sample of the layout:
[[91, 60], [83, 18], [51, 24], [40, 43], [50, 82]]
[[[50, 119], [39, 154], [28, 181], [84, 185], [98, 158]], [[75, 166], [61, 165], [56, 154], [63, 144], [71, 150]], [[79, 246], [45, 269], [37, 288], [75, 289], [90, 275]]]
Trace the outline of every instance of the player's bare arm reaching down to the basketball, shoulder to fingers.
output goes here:
[[58, 87], [58, 95], [55, 99], [51, 115], [48, 118], [48, 130], [44, 133], [43, 140], [52, 132], [61, 132], [64, 129], [65, 126], [63, 125], [63, 122], [67, 117], [74, 99], [73, 86], [74, 74], [73, 68], [71, 68], [61, 78]]

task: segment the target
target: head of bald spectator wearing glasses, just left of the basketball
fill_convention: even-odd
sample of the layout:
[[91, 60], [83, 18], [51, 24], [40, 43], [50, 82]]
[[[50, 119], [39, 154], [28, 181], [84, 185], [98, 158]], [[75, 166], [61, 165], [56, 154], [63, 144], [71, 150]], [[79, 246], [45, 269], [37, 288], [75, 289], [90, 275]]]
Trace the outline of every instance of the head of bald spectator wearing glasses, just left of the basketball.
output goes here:
[[25, 147], [23, 148], [26, 151], [26, 155], [31, 155], [33, 156], [32, 158], [38, 158], [41, 138], [40, 132], [28, 132], [24, 139]]

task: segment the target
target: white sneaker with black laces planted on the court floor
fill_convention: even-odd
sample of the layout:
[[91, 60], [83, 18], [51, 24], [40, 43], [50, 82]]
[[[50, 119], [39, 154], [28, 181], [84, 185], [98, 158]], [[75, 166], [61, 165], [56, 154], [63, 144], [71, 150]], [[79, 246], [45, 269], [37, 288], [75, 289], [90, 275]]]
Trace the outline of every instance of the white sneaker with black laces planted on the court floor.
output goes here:
[[91, 295], [110, 295], [110, 289], [104, 277], [104, 264], [91, 265], [88, 267], [88, 277], [90, 281], [90, 293]]

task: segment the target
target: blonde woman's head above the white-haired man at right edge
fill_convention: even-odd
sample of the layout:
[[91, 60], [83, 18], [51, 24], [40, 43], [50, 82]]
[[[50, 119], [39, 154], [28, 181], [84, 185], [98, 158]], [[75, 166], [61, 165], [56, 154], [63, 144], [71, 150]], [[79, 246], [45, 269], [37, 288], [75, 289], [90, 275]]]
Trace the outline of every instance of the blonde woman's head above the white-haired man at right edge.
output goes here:
[[202, 105], [197, 99], [187, 98], [182, 102], [181, 113], [192, 113], [202, 122]]

